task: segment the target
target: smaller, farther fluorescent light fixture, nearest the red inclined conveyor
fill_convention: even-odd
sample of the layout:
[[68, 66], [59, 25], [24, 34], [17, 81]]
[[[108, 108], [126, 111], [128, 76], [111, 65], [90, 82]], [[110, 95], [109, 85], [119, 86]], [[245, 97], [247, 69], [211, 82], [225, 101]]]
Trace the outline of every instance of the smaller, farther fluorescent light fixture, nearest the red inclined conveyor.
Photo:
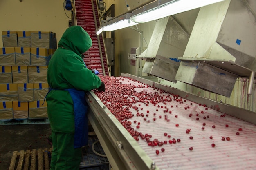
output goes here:
[[104, 22], [101, 27], [96, 30], [96, 34], [99, 35], [102, 31], [114, 31], [117, 29], [134, 26], [139, 23], [132, 22], [130, 19], [131, 13], [126, 13], [120, 17], [114, 18], [108, 22]]

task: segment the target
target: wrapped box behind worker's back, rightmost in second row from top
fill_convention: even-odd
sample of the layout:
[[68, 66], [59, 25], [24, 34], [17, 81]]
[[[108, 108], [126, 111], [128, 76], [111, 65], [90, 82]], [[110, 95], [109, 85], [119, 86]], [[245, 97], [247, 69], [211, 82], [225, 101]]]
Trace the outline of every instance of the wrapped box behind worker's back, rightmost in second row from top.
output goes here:
[[49, 49], [31, 48], [31, 66], [48, 66], [50, 59]]

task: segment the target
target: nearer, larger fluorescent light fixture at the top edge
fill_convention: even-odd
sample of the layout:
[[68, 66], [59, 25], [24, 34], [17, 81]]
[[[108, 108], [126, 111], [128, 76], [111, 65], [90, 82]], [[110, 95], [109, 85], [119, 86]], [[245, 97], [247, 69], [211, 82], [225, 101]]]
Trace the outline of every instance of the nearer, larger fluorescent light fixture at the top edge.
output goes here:
[[133, 22], [149, 22], [223, 0], [156, 0], [132, 11]]

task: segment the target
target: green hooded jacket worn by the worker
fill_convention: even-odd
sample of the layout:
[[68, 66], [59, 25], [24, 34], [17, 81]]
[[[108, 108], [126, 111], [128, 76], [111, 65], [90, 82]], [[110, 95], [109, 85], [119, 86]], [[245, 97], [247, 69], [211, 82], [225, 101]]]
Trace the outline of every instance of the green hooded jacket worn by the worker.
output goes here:
[[85, 68], [81, 58], [91, 46], [88, 33], [81, 26], [71, 26], [63, 33], [49, 62], [47, 81], [54, 90], [48, 93], [46, 101], [54, 132], [75, 132], [73, 100], [65, 89], [90, 91], [101, 86], [101, 79]]

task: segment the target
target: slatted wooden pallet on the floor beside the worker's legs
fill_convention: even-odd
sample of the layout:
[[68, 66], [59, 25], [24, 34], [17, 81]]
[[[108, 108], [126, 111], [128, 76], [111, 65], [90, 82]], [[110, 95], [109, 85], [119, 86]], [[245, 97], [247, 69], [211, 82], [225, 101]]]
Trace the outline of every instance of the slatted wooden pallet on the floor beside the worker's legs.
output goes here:
[[[48, 151], [51, 152], [51, 149], [14, 151], [9, 170], [49, 170]], [[19, 158], [19, 160], [17, 158]]]

